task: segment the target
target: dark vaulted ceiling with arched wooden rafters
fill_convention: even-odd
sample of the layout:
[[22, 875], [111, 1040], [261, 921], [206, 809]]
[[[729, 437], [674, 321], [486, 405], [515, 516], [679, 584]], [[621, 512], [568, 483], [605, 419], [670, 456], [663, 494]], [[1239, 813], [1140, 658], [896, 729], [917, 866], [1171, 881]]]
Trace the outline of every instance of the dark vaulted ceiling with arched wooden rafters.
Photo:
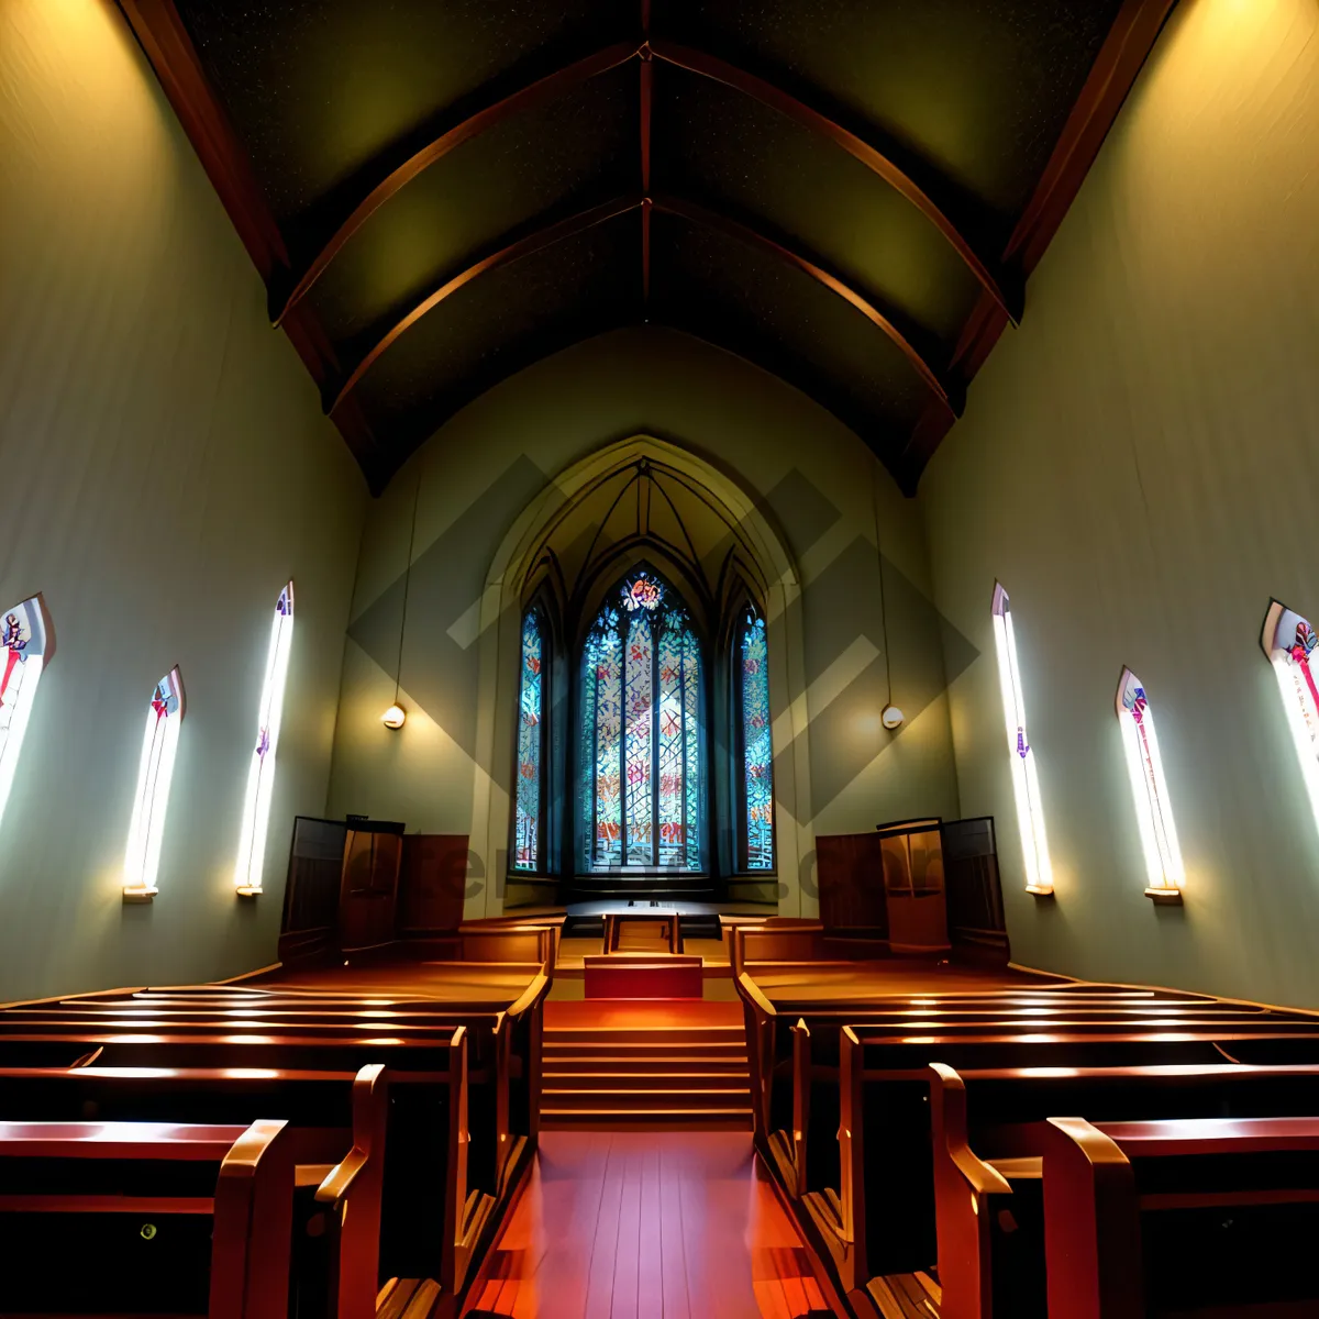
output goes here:
[[638, 322], [907, 491], [1174, 0], [120, 0], [379, 489]]

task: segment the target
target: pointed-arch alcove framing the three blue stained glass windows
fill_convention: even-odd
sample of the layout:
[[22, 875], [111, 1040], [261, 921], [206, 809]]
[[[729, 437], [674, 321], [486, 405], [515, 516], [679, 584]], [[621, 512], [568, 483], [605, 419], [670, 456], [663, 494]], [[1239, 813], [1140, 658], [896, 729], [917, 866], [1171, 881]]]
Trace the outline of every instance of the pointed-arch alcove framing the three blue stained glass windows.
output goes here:
[[[512, 760], [517, 744], [525, 609], [554, 601], [562, 629], [558, 666], [571, 674], [575, 648], [600, 601], [642, 562], [674, 584], [694, 627], [711, 642], [731, 634], [729, 611], [744, 609], [748, 600], [764, 619], [778, 864], [773, 877], [736, 882], [747, 896], [776, 900], [783, 914], [813, 914], [814, 898], [798, 882], [810, 864], [813, 831], [809, 725], [803, 703], [793, 699], [805, 686], [797, 565], [781, 532], [739, 481], [649, 435], [609, 445], [559, 472], [516, 518], [491, 561], [480, 605], [475, 757], [488, 769], [479, 772], [474, 797], [472, 845], [485, 856], [508, 856], [513, 793], [497, 766]], [[727, 708], [714, 710], [711, 724], [727, 723]], [[712, 769], [712, 776], [714, 794], [732, 794], [727, 769]], [[712, 839], [711, 847], [727, 851], [731, 843]], [[571, 864], [565, 857], [565, 873]], [[504, 893], [501, 885], [485, 885], [468, 900], [468, 915], [500, 913]]]

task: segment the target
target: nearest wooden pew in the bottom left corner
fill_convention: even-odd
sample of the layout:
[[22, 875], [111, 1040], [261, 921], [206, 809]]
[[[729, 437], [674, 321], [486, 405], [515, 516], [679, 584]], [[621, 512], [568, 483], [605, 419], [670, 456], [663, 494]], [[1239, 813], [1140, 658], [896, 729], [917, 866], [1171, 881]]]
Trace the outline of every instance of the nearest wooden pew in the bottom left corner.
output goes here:
[[286, 1319], [291, 1204], [284, 1122], [3, 1122], [0, 1310]]

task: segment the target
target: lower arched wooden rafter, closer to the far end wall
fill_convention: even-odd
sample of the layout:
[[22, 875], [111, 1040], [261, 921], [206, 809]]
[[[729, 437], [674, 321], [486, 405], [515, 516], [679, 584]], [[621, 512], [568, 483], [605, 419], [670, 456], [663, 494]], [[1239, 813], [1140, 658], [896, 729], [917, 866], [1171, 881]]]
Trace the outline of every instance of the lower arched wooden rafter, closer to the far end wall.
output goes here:
[[332, 415], [392, 344], [394, 344], [408, 330], [421, 321], [422, 317], [438, 307], [451, 294], [471, 284], [472, 280], [485, 274], [488, 270], [495, 270], [499, 266], [508, 265], [524, 256], [530, 256], [533, 252], [541, 252], [547, 247], [553, 247], [555, 243], [561, 243], [565, 239], [582, 233], [586, 230], [603, 224], [607, 220], [612, 220], [616, 216], [625, 215], [628, 211], [637, 210], [638, 207], [642, 212], [648, 212], [653, 207], [657, 211], [663, 211], [669, 215], [685, 219], [691, 224], [728, 235], [729, 237], [745, 243], [748, 247], [754, 247], [761, 252], [769, 253], [777, 260], [794, 266], [803, 274], [815, 280], [819, 285], [828, 289], [830, 293], [843, 298], [844, 302], [860, 311], [861, 315], [871, 322], [871, 324], [886, 335], [902, 356], [910, 363], [913, 369], [930, 390], [931, 396], [947, 408], [952, 417], [959, 417], [962, 414], [964, 401], [963, 392], [958, 389], [948, 380], [948, 377], [913, 344], [910, 338], [907, 338], [902, 330], [898, 328], [894, 314], [880, 310], [873, 302], [865, 298], [844, 280], [826, 270], [822, 264], [802, 255], [801, 252], [795, 252], [791, 248], [785, 247], [777, 239], [772, 239], [761, 233], [749, 224], [745, 224], [741, 220], [735, 220], [721, 212], [712, 211], [708, 207], [675, 197], [650, 198], [636, 195], [621, 197], [613, 202], [594, 206], [590, 210], [580, 211], [578, 215], [568, 216], [565, 220], [558, 220], [557, 223], [546, 226], [542, 230], [537, 230], [534, 233], [529, 233], [517, 241], [509, 243], [496, 252], [481, 257], [464, 270], [460, 270], [452, 278], [446, 280], [445, 284], [442, 284], [433, 293], [429, 293], [414, 307], [396, 321], [367, 350], [367, 352], [363, 353], [361, 359], [348, 372], [343, 384], [335, 392], [334, 397], [327, 398], [326, 412]]

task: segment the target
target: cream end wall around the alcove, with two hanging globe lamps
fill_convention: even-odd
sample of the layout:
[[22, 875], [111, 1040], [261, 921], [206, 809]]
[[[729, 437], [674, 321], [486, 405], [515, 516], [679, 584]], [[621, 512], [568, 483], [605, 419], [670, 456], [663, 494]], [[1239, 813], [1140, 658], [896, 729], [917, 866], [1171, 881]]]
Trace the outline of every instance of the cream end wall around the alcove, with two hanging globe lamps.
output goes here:
[[[670, 441], [764, 497], [803, 583], [811, 819], [816, 834], [873, 828], [930, 811], [956, 814], [939, 625], [927, 600], [923, 532], [913, 501], [857, 437], [745, 361], [685, 335], [640, 327], [547, 359], [445, 425], [373, 504], [363, 538], [330, 806], [404, 819], [409, 830], [468, 834], [476, 748], [479, 613], [491, 561], [545, 483], [636, 434]], [[419, 485], [418, 485], [419, 483]], [[882, 629], [874, 555], [880, 504], [894, 698], [913, 718], [878, 723]], [[419, 489], [419, 495], [418, 495]], [[394, 692], [402, 572], [417, 503], [402, 658], [409, 719], [380, 724]], [[815, 731], [820, 735], [816, 736]], [[776, 754], [782, 753], [776, 747]], [[512, 760], [512, 747], [508, 749]], [[497, 766], [500, 777], [508, 766]], [[506, 781], [506, 776], [505, 776]], [[475, 859], [489, 874], [489, 857]], [[798, 876], [782, 873], [795, 905]], [[806, 874], [805, 906], [813, 901]]]

